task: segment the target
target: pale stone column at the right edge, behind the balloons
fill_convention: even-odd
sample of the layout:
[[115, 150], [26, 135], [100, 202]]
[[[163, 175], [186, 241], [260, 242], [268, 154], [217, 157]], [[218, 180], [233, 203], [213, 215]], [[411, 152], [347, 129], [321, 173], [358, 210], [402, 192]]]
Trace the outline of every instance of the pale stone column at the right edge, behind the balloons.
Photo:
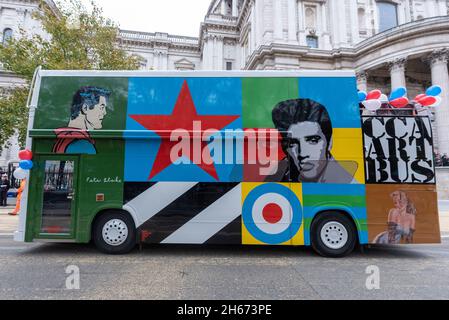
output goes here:
[[449, 72], [447, 63], [449, 50], [441, 49], [432, 52], [427, 61], [432, 73], [432, 85], [438, 85], [443, 89], [441, 105], [435, 108], [435, 121], [437, 131], [437, 148], [441, 154], [449, 155]]

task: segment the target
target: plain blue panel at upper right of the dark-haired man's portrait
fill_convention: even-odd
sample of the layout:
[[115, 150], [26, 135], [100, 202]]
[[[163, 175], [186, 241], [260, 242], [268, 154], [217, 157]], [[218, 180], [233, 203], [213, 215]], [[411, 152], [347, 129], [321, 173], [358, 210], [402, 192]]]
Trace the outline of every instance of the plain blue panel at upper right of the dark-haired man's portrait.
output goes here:
[[299, 97], [326, 107], [334, 128], [361, 127], [355, 77], [300, 78]]

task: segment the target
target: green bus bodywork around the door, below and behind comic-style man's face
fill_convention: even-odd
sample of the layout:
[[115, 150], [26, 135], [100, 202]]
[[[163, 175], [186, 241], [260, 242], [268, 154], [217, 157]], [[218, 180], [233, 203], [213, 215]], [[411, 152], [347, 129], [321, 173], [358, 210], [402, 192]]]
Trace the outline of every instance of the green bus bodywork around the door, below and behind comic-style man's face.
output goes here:
[[[80, 112], [74, 112], [74, 105], [75, 97], [83, 90], [96, 90], [108, 95], [106, 111], [96, 115], [94, 129], [75, 128], [71, 123], [80, 115]], [[35, 156], [79, 156], [78, 188], [74, 192], [76, 221], [73, 235], [76, 242], [90, 240], [91, 224], [99, 211], [123, 206], [125, 143], [121, 138], [126, 125], [127, 95], [127, 78], [100, 75], [42, 78], [31, 131], [33, 153]], [[35, 174], [32, 170], [32, 180]], [[30, 191], [30, 204], [42, 198], [42, 187]], [[32, 205], [31, 208], [28, 210], [28, 241], [36, 237], [32, 230], [42, 213], [42, 208], [33, 208]]]

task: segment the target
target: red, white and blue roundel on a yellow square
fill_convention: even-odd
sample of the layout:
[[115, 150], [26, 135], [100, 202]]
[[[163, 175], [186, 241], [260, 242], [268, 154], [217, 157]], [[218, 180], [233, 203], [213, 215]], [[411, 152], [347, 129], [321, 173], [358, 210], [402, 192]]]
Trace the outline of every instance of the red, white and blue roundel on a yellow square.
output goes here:
[[248, 194], [242, 216], [254, 238], [267, 244], [280, 244], [289, 241], [301, 227], [302, 206], [289, 188], [268, 183]]

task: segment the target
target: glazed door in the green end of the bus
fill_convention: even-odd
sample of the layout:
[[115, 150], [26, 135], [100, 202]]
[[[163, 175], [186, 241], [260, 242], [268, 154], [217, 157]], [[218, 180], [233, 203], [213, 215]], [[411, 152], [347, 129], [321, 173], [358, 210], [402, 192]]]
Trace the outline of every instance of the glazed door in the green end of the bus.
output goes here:
[[77, 156], [39, 156], [31, 188], [36, 198], [35, 239], [74, 239], [76, 236]]

